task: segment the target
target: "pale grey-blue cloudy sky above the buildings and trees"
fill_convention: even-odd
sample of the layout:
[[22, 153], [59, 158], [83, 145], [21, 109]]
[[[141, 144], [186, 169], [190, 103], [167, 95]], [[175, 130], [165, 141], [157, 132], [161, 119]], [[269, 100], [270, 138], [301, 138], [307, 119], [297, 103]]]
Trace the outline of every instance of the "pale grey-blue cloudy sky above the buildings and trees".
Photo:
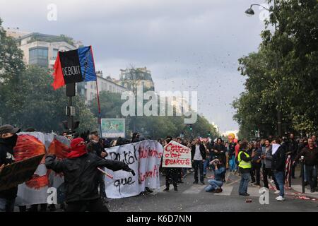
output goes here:
[[[238, 129], [230, 103], [244, 90], [237, 59], [257, 50], [264, 0], [0, 0], [4, 27], [68, 35], [93, 45], [97, 70], [119, 78], [134, 65], [151, 70], [155, 90], [198, 92], [198, 111]], [[49, 4], [57, 20], [48, 20]]]

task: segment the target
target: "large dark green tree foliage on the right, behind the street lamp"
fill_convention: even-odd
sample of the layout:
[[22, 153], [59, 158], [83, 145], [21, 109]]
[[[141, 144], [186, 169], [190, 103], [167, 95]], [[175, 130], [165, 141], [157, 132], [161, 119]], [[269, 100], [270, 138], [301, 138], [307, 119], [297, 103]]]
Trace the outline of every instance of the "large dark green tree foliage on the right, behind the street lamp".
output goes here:
[[[274, 4], [273, 4], [274, 3]], [[275, 134], [278, 107], [283, 131], [318, 130], [318, 3], [269, 0], [270, 20], [259, 52], [239, 59], [245, 92], [233, 102], [240, 133]], [[275, 32], [270, 29], [276, 27]]]

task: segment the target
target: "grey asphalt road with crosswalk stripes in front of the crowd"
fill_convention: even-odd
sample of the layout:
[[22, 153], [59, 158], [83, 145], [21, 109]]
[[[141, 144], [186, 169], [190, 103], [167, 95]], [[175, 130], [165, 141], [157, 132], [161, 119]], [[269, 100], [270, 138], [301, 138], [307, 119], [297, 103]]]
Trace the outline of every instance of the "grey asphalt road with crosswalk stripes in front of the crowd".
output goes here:
[[[208, 172], [208, 176], [211, 172]], [[228, 181], [223, 185], [223, 192], [213, 194], [204, 191], [207, 185], [193, 184], [194, 174], [189, 174], [184, 179], [184, 184], [179, 184], [179, 191], [163, 191], [165, 178], [160, 177], [162, 185], [158, 191], [146, 195], [129, 198], [111, 199], [108, 203], [112, 212], [267, 212], [267, 211], [318, 211], [318, 201], [302, 200], [295, 196], [285, 196], [285, 201], [276, 201], [276, 194], [269, 191], [269, 204], [259, 203], [259, 187], [249, 186], [249, 197], [238, 195], [240, 177], [231, 173], [227, 174]], [[205, 179], [207, 184], [208, 179]], [[246, 199], [252, 199], [247, 203]]]

